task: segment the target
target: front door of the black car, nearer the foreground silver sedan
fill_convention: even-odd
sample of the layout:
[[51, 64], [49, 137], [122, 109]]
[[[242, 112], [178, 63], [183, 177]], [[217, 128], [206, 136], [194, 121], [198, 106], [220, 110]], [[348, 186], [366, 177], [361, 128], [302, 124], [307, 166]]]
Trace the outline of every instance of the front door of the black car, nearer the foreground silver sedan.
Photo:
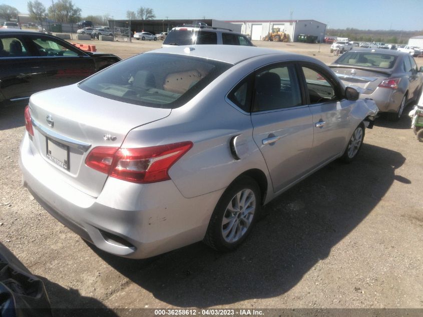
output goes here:
[[71, 85], [96, 72], [91, 56], [65, 41], [39, 34], [32, 35], [30, 41], [46, 71], [45, 89]]

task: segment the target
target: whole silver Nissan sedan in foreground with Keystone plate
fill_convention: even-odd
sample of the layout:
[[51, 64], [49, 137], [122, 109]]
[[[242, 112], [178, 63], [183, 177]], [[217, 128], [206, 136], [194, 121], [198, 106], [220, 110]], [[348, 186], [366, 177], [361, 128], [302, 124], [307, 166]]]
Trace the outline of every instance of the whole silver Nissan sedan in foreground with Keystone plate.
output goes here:
[[260, 208], [337, 158], [377, 107], [323, 63], [255, 47], [173, 47], [34, 94], [24, 184], [107, 252], [145, 258], [203, 240], [227, 251]]

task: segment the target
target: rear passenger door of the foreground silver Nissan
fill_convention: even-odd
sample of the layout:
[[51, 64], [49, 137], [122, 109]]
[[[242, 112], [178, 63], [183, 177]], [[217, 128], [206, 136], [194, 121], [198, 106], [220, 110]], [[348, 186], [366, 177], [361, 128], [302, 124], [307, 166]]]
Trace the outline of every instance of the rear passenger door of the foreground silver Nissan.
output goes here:
[[294, 64], [274, 64], [254, 74], [253, 139], [278, 192], [310, 169], [312, 115], [302, 102]]

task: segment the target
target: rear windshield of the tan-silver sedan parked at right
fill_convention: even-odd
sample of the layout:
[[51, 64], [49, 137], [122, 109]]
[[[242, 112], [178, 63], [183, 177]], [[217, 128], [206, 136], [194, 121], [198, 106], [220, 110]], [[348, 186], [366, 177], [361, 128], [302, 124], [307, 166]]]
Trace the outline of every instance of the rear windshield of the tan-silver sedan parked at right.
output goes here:
[[396, 56], [370, 52], [344, 53], [335, 64], [345, 64], [364, 67], [393, 68]]

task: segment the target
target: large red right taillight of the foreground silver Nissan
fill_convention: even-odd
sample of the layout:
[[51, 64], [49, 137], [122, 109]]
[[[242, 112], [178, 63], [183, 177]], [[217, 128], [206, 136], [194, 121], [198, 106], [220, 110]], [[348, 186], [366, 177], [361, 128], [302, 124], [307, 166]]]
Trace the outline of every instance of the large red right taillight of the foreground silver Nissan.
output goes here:
[[85, 164], [129, 182], [161, 182], [170, 179], [170, 167], [191, 147], [189, 141], [133, 149], [96, 147], [88, 154]]

